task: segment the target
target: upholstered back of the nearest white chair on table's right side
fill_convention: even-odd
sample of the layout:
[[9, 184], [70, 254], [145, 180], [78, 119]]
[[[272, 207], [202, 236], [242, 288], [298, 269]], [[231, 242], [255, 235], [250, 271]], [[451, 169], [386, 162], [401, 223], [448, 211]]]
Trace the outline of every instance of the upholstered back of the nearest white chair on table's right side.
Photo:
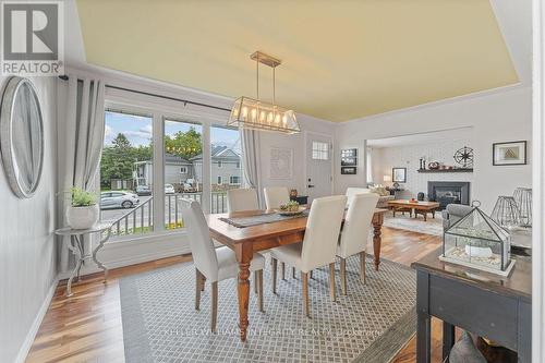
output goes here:
[[313, 201], [301, 251], [303, 273], [335, 263], [346, 206], [344, 195], [326, 196]]

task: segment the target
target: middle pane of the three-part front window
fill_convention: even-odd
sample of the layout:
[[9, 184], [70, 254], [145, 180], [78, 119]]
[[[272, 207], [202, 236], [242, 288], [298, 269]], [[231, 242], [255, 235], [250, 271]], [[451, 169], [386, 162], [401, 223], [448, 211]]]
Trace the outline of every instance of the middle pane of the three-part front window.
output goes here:
[[165, 120], [165, 228], [183, 228], [180, 198], [201, 202], [203, 126]]

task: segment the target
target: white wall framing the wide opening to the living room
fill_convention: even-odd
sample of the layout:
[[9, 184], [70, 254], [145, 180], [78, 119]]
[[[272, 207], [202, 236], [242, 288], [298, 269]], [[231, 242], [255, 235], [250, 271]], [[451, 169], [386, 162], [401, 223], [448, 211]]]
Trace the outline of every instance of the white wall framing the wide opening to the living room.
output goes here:
[[[507, 87], [494, 93], [461, 97], [423, 105], [377, 117], [341, 123], [337, 129], [337, 147], [358, 147], [363, 155], [365, 140], [472, 126], [474, 130], [475, 165], [472, 197], [492, 211], [498, 195], [512, 194], [517, 186], [531, 186], [532, 92], [530, 87]], [[496, 142], [529, 142], [526, 166], [492, 166], [492, 144]], [[336, 161], [339, 165], [339, 161]], [[337, 168], [338, 169], [338, 168]], [[363, 186], [365, 172], [341, 176], [336, 171], [336, 191]]]

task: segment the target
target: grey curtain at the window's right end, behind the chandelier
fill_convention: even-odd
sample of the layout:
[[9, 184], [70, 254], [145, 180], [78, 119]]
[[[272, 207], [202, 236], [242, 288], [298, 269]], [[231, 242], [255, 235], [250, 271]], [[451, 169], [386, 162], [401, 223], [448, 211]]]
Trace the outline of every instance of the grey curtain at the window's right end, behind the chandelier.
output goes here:
[[259, 132], [240, 129], [242, 145], [243, 186], [257, 191], [259, 205], [263, 206], [262, 181], [259, 180]]

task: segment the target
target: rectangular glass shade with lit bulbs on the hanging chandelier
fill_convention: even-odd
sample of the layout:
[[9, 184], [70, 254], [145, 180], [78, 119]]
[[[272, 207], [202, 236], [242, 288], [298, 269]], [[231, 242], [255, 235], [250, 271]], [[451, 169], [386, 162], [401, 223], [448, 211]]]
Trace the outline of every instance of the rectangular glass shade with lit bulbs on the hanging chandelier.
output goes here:
[[250, 97], [240, 97], [234, 101], [227, 124], [234, 128], [277, 131], [286, 134], [301, 132], [295, 112]]

